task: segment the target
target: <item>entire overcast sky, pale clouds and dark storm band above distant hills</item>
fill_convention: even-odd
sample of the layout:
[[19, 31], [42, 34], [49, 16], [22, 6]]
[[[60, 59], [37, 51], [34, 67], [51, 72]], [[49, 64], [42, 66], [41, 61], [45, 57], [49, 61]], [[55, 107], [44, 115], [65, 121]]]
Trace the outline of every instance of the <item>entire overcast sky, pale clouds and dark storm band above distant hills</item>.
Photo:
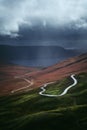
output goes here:
[[8, 35], [21, 42], [85, 40], [86, 34], [87, 0], [0, 0], [1, 41]]

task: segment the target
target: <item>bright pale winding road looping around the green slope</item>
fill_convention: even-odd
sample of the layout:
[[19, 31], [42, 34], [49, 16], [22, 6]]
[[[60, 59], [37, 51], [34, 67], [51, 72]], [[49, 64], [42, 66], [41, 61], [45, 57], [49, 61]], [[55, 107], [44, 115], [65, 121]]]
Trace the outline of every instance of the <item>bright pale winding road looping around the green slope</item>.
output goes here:
[[60, 95], [44, 94], [44, 92], [46, 91], [45, 88], [47, 87], [47, 85], [53, 84], [54, 82], [50, 82], [50, 83], [44, 84], [44, 86], [41, 87], [42, 91], [39, 92], [39, 94], [40, 94], [41, 96], [46, 96], [46, 97], [58, 97], [58, 96], [63, 96], [63, 95], [65, 95], [65, 94], [67, 94], [68, 90], [71, 89], [72, 87], [74, 87], [74, 86], [77, 84], [77, 79], [76, 79], [74, 76], [75, 76], [75, 74], [72, 74], [72, 75], [70, 76], [70, 77], [73, 79], [74, 83], [71, 84], [70, 86], [68, 86]]

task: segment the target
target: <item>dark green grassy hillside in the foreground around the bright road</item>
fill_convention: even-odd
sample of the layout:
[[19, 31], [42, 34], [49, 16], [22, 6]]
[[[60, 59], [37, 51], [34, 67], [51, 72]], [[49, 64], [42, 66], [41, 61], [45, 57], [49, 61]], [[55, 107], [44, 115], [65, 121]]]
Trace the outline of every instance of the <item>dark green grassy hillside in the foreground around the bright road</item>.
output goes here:
[[[40, 96], [40, 89], [0, 97], [0, 130], [86, 130], [87, 74], [76, 78], [78, 84], [62, 97]], [[50, 85], [47, 93], [60, 93], [71, 82]]]

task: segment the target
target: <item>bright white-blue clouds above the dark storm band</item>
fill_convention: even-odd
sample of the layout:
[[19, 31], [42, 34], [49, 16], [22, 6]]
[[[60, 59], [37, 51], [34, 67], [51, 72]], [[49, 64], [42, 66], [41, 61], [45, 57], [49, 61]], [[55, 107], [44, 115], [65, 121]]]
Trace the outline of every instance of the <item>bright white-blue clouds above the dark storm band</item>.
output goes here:
[[87, 0], [0, 0], [0, 34], [17, 36], [22, 25], [87, 28]]

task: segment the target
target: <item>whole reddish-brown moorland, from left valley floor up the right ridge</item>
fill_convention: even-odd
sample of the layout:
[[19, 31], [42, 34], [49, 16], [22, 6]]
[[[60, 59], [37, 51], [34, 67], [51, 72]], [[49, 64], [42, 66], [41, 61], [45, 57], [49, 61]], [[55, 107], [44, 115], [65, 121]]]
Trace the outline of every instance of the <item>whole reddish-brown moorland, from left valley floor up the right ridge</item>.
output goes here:
[[[2, 77], [3, 74], [3, 79], [5, 75], [7, 75], [5, 80], [0, 80], [0, 94], [8, 94], [11, 93], [12, 90], [29, 85], [23, 80], [24, 78], [33, 80], [34, 84], [30, 89], [35, 89], [45, 83], [62, 80], [64, 77], [68, 77], [71, 74], [78, 75], [80, 73], [87, 73], [87, 53], [69, 58], [68, 60], [64, 60], [58, 64], [43, 69], [28, 69], [28, 67], [24, 67], [25, 69], [23, 71], [20, 66], [19, 68], [15, 66], [11, 68], [10, 72], [10, 68], [11, 67], [8, 68], [8, 66], [5, 66], [2, 71], [0, 71], [0, 77]], [[7, 73], [6, 69], [8, 69]], [[8, 78], [8, 75], [10, 75], [10, 78]]]

